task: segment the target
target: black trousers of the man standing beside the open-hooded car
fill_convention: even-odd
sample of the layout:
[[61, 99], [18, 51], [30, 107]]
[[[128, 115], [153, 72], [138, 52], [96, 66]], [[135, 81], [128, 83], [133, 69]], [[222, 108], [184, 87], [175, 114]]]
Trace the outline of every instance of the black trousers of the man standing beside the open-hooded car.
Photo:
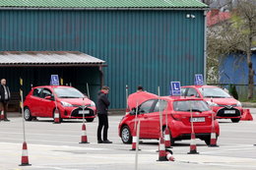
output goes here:
[[97, 126], [97, 141], [101, 140], [101, 131], [103, 128], [103, 141], [107, 140], [107, 129], [108, 129], [108, 117], [107, 114], [97, 114], [98, 126]]

